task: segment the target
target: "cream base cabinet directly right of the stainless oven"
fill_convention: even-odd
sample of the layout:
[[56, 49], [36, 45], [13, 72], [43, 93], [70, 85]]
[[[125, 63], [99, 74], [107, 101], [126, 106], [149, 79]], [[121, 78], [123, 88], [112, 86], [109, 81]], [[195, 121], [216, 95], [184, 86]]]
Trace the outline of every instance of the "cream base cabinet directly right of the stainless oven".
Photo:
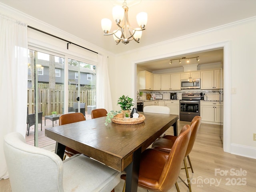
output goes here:
[[200, 116], [205, 123], [223, 123], [223, 103], [201, 101]]

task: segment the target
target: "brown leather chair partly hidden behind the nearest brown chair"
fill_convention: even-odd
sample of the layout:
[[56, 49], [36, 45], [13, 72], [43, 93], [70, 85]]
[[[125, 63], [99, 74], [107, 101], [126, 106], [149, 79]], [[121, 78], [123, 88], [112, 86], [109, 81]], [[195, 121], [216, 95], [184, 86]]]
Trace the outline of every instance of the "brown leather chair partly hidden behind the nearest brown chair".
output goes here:
[[[201, 120], [202, 118], [200, 116], [195, 116], [191, 123], [191, 136], [190, 136], [190, 140], [188, 143], [188, 148], [186, 150], [186, 154], [185, 154], [185, 158], [184, 158], [184, 166], [186, 171], [186, 177], [187, 177], [187, 182], [188, 184], [186, 184], [180, 177], [180, 179], [182, 180], [182, 182], [189, 188], [189, 191], [191, 192], [191, 185], [190, 185], [190, 178], [189, 178], [189, 174], [188, 174], [188, 168], [191, 168], [192, 173], [194, 173], [193, 168], [192, 168], [192, 164], [189, 158], [189, 154], [192, 151], [192, 148], [194, 146], [194, 142], [196, 140], [196, 135], [198, 133], [198, 130], [200, 128], [201, 125]], [[152, 144], [152, 148], [156, 149], [156, 150], [160, 150], [162, 152], [166, 152], [169, 153], [172, 150], [172, 146], [175, 143], [176, 139], [178, 137], [177, 136], [172, 136], [172, 135], [165, 135], [161, 138], [159, 138], [158, 140], [156, 140], [153, 144]], [[187, 163], [186, 163], [186, 157], [188, 158], [188, 162], [190, 167], [187, 167]]]

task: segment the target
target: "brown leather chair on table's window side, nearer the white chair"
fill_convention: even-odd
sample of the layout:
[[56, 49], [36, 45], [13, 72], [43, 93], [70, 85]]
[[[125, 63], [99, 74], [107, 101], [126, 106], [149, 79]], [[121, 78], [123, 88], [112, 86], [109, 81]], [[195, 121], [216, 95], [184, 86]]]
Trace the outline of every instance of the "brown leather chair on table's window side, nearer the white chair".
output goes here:
[[[85, 121], [85, 120], [86, 119], [84, 117], [84, 114], [82, 114], [82, 113], [63, 114], [60, 116], [59, 125], [65, 125], [65, 124], [79, 122], [79, 121]], [[66, 147], [63, 160], [65, 160], [66, 156], [71, 157], [75, 154], [80, 154], [80, 152], [78, 152], [72, 148]]]

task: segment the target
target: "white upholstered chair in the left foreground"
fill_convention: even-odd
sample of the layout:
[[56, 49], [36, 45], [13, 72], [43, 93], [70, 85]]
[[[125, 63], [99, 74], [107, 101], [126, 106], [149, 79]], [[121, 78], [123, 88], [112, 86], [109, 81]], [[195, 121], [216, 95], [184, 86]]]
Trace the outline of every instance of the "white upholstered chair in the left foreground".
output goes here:
[[119, 172], [96, 160], [77, 154], [62, 162], [18, 132], [4, 137], [4, 154], [12, 192], [110, 192], [120, 182]]

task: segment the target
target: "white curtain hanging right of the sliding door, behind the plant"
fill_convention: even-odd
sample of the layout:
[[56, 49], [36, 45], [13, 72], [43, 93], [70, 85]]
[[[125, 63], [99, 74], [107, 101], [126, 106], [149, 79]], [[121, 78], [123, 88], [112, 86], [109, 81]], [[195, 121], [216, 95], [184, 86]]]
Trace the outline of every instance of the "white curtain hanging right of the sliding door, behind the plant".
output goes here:
[[113, 110], [108, 78], [108, 58], [98, 54], [98, 66], [96, 76], [96, 108], [104, 108], [107, 112]]

